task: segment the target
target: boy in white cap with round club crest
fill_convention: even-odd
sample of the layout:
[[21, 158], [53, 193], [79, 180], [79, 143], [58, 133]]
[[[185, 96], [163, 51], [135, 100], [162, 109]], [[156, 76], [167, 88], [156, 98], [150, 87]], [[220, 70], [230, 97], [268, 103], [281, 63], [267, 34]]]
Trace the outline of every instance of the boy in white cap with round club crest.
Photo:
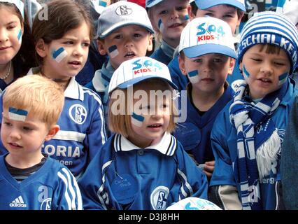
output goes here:
[[85, 86], [99, 94], [106, 112], [108, 83], [113, 72], [122, 62], [145, 56], [152, 50], [154, 30], [145, 8], [128, 1], [107, 6], [99, 16], [97, 26], [99, 53], [107, 54], [109, 59]]

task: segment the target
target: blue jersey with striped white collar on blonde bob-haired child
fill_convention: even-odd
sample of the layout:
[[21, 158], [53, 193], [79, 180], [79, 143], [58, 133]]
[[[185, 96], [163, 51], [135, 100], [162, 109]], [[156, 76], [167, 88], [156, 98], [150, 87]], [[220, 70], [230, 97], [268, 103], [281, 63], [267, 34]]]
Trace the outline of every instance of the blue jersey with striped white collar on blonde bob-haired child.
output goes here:
[[164, 210], [185, 197], [206, 199], [208, 190], [206, 175], [171, 134], [147, 148], [114, 134], [78, 185], [84, 209]]

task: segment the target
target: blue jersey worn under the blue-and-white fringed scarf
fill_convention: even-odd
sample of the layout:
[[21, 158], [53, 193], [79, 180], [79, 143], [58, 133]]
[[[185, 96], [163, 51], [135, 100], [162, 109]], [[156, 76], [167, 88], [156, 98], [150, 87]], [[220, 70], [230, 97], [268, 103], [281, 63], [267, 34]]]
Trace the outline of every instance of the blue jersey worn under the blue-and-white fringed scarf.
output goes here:
[[[271, 116], [275, 127], [278, 129], [278, 135], [281, 139], [285, 134], [285, 127], [289, 122], [289, 113], [292, 102], [295, 96], [295, 84], [288, 79], [288, 90], [283, 97], [283, 101], [279, 104], [278, 109]], [[232, 101], [225, 106], [215, 120], [213, 129], [211, 131], [211, 147], [215, 157], [215, 169], [212, 174], [210, 186], [236, 186], [239, 193], [239, 200], [241, 198], [240, 185], [234, 176], [233, 167], [237, 160], [237, 130], [230, 123], [229, 107]], [[267, 123], [262, 124], [255, 130], [262, 134], [266, 130]], [[260, 186], [260, 197], [262, 199], [263, 209], [276, 209], [278, 204], [276, 201], [279, 193], [277, 192], [278, 182], [280, 179], [280, 160], [276, 164], [272, 164], [271, 172], [268, 176], [262, 179]]]

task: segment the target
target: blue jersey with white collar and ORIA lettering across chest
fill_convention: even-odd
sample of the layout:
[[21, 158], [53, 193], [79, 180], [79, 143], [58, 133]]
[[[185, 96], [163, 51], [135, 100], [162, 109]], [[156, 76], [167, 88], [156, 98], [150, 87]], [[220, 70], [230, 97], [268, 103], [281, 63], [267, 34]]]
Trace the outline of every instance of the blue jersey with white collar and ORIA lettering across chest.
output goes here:
[[[64, 96], [64, 108], [57, 122], [60, 130], [50, 141], [45, 141], [42, 152], [66, 165], [78, 178], [106, 142], [104, 110], [99, 96], [79, 85], [74, 77], [64, 91]], [[2, 120], [2, 113], [0, 118]], [[7, 152], [3, 146], [1, 151], [2, 154]]]

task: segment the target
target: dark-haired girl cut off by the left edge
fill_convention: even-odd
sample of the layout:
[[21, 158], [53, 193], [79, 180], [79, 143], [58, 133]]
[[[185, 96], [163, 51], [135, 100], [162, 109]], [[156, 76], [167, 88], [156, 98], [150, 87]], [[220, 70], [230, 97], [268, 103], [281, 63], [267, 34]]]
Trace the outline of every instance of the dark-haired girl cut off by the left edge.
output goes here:
[[20, 0], [1, 0], [0, 92], [34, 66], [33, 55], [34, 45], [24, 3]]

